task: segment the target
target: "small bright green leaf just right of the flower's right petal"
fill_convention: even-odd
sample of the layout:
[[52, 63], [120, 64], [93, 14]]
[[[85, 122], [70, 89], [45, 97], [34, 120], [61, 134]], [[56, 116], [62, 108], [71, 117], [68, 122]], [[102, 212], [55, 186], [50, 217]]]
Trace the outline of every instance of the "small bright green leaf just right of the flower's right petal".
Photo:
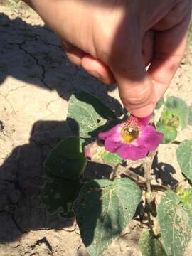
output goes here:
[[162, 132], [164, 137], [161, 141], [161, 144], [167, 144], [173, 142], [177, 137], [177, 131], [174, 127], [168, 126], [162, 122], [158, 122], [156, 124], [156, 130], [158, 132]]

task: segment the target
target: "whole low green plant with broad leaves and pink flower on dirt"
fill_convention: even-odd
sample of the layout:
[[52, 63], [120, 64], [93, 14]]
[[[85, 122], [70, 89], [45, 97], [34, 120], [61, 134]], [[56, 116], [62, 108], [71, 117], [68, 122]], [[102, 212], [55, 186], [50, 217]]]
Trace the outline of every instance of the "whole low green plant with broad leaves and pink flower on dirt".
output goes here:
[[[192, 141], [175, 139], [178, 129], [191, 124], [191, 108], [172, 96], [161, 100], [157, 107], [163, 109], [159, 122], [150, 121], [149, 125], [149, 119], [138, 121], [127, 114], [123, 117], [127, 121], [123, 122], [97, 97], [85, 92], [70, 97], [67, 122], [73, 136], [63, 139], [46, 159], [41, 203], [52, 214], [75, 216], [91, 256], [102, 255], [134, 218], [142, 200], [142, 214], [147, 216], [149, 227], [139, 240], [142, 255], [185, 253], [192, 230]], [[138, 134], [142, 132], [147, 132], [147, 137], [139, 141]], [[151, 166], [160, 140], [162, 144], [178, 145], [176, 156], [188, 188], [151, 184]], [[93, 163], [110, 166], [110, 178], [85, 180], [85, 167], [91, 169]], [[144, 169], [144, 176], [134, 172], [136, 166]], [[159, 193], [163, 195], [157, 206]]]

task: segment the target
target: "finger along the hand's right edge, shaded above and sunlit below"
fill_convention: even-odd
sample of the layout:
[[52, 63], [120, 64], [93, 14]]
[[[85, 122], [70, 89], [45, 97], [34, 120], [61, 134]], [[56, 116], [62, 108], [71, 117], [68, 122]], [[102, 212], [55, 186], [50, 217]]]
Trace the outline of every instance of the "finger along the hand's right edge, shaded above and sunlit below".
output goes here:
[[149, 74], [154, 81], [156, 99], [159, 100], [169, 84], [183, 58], [190, 15], [174, 28], [156, 33], [154, 57]]

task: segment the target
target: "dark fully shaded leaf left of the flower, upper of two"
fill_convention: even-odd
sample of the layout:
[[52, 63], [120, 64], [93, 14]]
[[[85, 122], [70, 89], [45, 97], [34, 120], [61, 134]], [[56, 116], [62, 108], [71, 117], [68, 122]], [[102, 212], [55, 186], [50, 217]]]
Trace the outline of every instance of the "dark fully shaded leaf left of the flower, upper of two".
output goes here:
[[63, 139], [48, 155], [46, 168], [57, 177], [78, 180], [87, 164], [84, 143], [85, 140], [78, 137]]

